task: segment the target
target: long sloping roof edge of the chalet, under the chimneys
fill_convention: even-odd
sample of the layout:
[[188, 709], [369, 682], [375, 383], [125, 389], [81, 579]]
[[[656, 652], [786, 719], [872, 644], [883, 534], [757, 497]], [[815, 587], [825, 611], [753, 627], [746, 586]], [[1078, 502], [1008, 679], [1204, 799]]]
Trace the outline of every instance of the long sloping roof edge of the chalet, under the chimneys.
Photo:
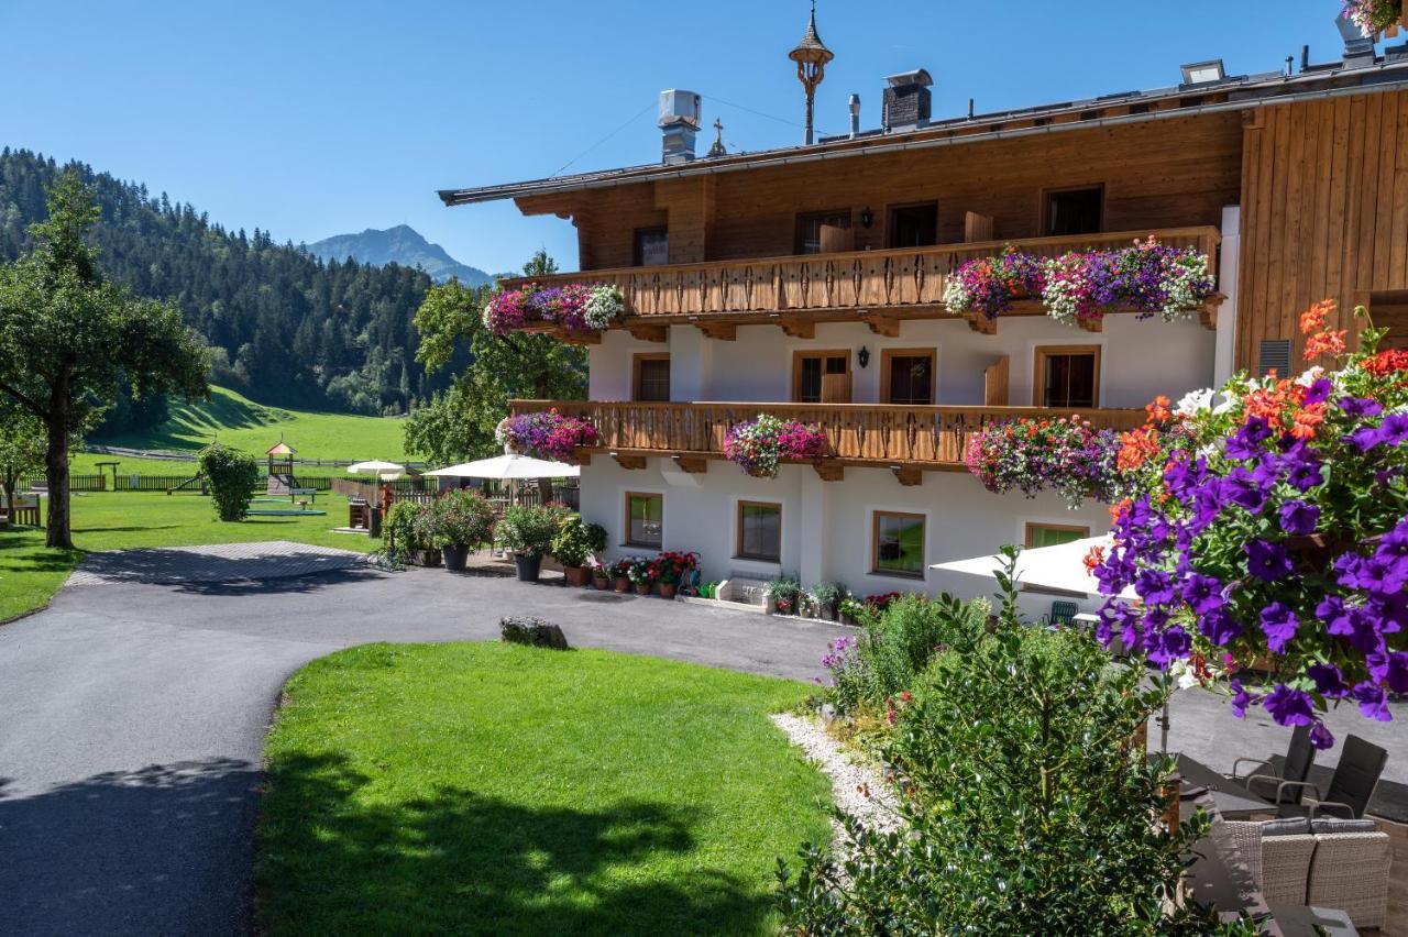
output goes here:
[[[1291, 100], [1364, 94], [1400, 87], [1408, 87], [1408, 44], [1385, 49], [1381, 58], [1363, 63], [1356, 60], [1307, 65], [1298, 75], [1291, 76], [1281, 72], [1228, 76], [1219, 82], [1178, 84], [1146, 91], [1121, 91], [1079, 101], [1060, 101], [1056, 104], [1039, 104], [1035, 107], [931, 121], [924, 127], [903, 132], [872, 129], [856, 136], [824, 136], [811, 146], [780, 146], [752, 153], [705, 156], [677, 165], [648, 163], [497, 186], [442, 189], [438, 194], [441, 201], [448, 207], [467, 205], [504, 198], [522, 198], [589, 189], [611, 189], [662, 179], [686, 179], [690, 176], [741, 172], [760, 166], [787, 166], [821, 159], [950, 146], [986, 139], [1059, 134], [1074, 129], [1090, 129], [1091, 127], [1156, 121], [1217, 111], [1250, 110]], [[1225, 100], [1200, 103], [1202, 97], [1222, 97]], [[1170, 100], [1177, 101], [1178, 107], [1166, 110], [1150, 108], [1148, 113], [1140, 114], [1098, 115], [1101, 108], [1122, 107], [1126, 104], [1157, 104]], [[1071, 113], [1079, 114], [1081, 120], [1050, 122], [1041, 127], [1002, 127], [1005, 122], [1053, 118]]]

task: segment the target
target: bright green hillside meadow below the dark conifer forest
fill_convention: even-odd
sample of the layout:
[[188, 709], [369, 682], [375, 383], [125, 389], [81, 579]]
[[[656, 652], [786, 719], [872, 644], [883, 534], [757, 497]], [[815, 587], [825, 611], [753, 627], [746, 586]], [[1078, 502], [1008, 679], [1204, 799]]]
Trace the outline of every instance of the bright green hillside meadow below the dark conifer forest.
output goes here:
[[[300, 459], [403, 459], [401, 431], [406, 422], [391, 416], [352, 416], [282, 409], [256, 404], [222, 387], [210, 388], [210, 400], [193, 404], [173, 402], [163, 425], [139, 435], [94, 438], [90, 442], [132, 449], [201, 449], [213, 439], [262, 456], [283, 439], [298, 450]], [[89, 474], [94, 461], [113, 456], [84, 453], [73, 460], [73, 471]], [[179, 474], [169, 461], [121, 459], [118, 471]]]

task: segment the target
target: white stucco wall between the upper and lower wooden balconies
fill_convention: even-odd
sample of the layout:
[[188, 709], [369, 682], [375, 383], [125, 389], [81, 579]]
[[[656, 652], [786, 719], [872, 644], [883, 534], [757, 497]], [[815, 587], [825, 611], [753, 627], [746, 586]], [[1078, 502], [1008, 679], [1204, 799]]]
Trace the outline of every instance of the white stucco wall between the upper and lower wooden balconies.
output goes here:
[[[631, 400], [631, 359], [638, 352], [670, 353], [670, 395], [677, 401], [787, 401], [791, 398], [793, 352], [846, 349], [852, 353], [852, 401], [880, 400], [880, 360], [887, 348], [938, 350], [939, 404], [983, 402], [983, 370], [1010, 357], [1014, 407], [1032, 402], [1035, 350], [1041, 345], [1098, 345], [1101, 407], [1143, 407], [1157, 394], [1177, 398], [1208, 387], [1214, 377], [1215, 335], [1197, 322], [1136, 319], [1111, 315], [1102, 332], [1081, 332], [1038, 315], [1000, 319], [997, 335], [981, 335], [966, 322], [911, 319], [898, 338], [874, 335], [863, 324], [817, 326], [817, 338], [796, 339], [776, 325], [745, 325], [738, 339], [707, 339], [693, 325], [669, 329], [667, 342], [642, 342], [611, 331], [591, 346], [591, 400]], [[870, 352], [862, 369], [856, 352]]]

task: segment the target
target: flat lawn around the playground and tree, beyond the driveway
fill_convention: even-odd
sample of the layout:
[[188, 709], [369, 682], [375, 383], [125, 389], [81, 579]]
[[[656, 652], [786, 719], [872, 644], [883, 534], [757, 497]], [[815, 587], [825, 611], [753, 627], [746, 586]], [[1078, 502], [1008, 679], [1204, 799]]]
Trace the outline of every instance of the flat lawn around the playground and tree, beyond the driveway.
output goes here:
[[[277, 506], [277, 505], [253, 505]], [[293, 540], [346, 550], [382, 546], [370, 537], [332, 533], [346, 523], [348, 502], [342, 495], [320, 494], [317, 504], [325, 516], [249, 518], [221, 523], [210, 498], [197, 494], [168, 495], [145, 491], [106, 491], [73, 495], [73, 543], [79, 549], [59, 553], [44, 549], [44, 530], [0, 530], [0, 622], [39, 608], [49, 601], [83, 550], [127, 547], [199, 546], [206, 543], [249, 543]]]

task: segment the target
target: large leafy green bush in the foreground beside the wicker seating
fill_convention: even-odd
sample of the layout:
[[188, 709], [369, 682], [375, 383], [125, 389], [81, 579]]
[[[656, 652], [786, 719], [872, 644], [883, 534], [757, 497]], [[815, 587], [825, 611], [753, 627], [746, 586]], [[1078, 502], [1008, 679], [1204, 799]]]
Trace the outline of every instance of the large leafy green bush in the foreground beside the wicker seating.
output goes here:
[[[1008, 599], [993, 633], [939, 653], [912, 696], [891, 702], [883, 756], [903, 778], [901, 827], [877, 833], [838, 813], [843, 861], [805, 847], [796, 871], [780, 865], [784, 930], [1256, 933], [1171, 900], [1208, 820], [1159, 829], [1173, 760], [1131, 741], [1170, 682], [1142, 685], [1087, 636], [1026, 627]], [[918, 642], [915, 612], [904, 625], [887, 616], [883, 640]]]

